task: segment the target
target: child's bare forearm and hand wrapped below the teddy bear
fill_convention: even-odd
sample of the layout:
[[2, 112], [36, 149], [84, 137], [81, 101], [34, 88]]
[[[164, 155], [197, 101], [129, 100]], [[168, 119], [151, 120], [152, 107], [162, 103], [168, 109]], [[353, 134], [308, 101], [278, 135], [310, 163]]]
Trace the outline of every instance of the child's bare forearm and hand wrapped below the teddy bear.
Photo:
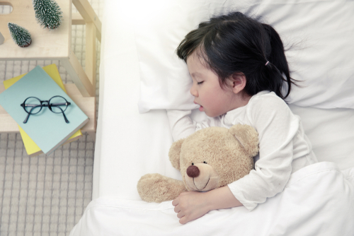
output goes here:
[[242, 206], [227, 186], [207, 192], [186, 191], [172, 204], [181, 224], [200, 218], [212, 210]]

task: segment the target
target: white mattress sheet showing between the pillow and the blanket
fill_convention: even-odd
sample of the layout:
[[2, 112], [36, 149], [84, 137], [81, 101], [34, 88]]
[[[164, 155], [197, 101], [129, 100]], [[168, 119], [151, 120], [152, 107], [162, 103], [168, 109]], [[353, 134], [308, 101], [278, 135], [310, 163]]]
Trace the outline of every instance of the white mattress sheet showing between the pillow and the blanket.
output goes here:
[[[134, 32], [125, 24], [120, 24], [119, 34], [112, 31], [115, 22], [108, 10], [103, 15], [93, 199], [139, 200], [136, 185], [142, 175], [159, 172], [176, 179], [181, 175], [167, 157], [172, 138], [166, 112], [138, 112], [140, 75]], [[337, 163], [341, 170], [354, 167], [354, 110], [290, 108], [302, 118], [319, 161]]]

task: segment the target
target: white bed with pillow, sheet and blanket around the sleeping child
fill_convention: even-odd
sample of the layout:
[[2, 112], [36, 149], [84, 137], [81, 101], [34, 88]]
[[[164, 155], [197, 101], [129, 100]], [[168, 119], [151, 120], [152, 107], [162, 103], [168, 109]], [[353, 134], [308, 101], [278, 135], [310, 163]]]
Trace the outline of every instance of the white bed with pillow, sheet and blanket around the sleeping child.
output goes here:
[[[105, 0], [93, 201], [70, 235], [353, 235], [353, 7], [341, 0]], [[188, 70], [174, 51], [200, 21], [230, 9], [263, 16], [291, 46], [291, 75], [303, 86], [286, 102], [319, 163], [295, 172], [282, 193], [251, 212], [210, 211], [181, 225], [171, 201], [142, 201], [137, 181], [155, 172], [181, 179], [167, 157], [166, 109], [205, 115], [195, 110]]]

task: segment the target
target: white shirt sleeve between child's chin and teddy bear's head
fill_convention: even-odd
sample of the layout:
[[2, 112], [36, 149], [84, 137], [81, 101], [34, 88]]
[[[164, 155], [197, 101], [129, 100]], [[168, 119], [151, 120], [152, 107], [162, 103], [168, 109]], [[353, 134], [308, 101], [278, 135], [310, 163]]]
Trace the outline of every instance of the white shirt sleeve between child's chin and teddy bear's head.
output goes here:
[[208, 118], [202, 122], [195, 122], [190, 118], [191, 110], [166, 110], [169, 117], [169, 124], [173, 141], [178, 141], [181, 138], [186, 138], [195, 131], [204, 129], [210, 126], [219, 125], [219, 117]]

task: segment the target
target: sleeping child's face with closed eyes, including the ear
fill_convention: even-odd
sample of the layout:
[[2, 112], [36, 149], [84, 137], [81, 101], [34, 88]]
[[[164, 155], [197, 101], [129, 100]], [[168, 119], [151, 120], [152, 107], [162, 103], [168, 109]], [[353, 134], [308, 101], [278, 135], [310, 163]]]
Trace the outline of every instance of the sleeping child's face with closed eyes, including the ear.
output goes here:
[[217, 117], [239, 107], [238, 96], [232, 89], [222, 89], [217, 74], [204, 66], [193, 53], [187, 59], [193, 86], [190, 93], [195, 97], [194, 102], [200, 105], [200, 112], [208, 117]]

